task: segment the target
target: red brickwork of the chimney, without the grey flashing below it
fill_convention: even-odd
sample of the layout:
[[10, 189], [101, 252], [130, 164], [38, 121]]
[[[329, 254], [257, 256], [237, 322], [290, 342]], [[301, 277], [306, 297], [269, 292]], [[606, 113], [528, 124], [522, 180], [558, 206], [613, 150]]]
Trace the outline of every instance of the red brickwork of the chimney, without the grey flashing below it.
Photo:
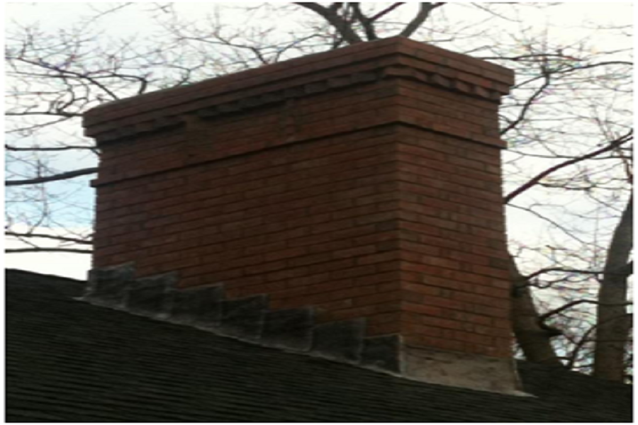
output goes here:
[[[293, 68], [276, 64], [89, 112], [89, 132], [115, 130], [164, 111], [191, 115], [331, 85], [286, 104], [194, 119], [186, 130], [100, 142], [95, 264], [133, 261], [140, 276], [178, 270], [181, 285], [223, 281], [229, 297], [267, 293], [272, 308], [366, 317], [369, 335], [504, 356], [498, 104], [404, 74], [503, 92], [511, 74], [411, 40], [345, 50], [320, 55], [328, 62], [300, 58]], [[391, 79], [337, 87], [386, 65], [401, 68]]]

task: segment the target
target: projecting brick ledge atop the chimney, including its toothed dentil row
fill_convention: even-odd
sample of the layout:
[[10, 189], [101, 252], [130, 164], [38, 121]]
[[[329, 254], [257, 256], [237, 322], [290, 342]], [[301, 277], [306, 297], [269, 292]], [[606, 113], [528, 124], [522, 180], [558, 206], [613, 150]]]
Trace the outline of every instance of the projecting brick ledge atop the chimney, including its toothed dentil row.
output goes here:
[[[508, 93], [513, 76], [510, 69], [467, 55], [408, 38], [386, 38], [112, 101], [87, 111], [83, 124], [89, 137], [106, 135], [113, 128], [133, 135], [181, 123], [178, 115], [204, 117], [206, 112], [200, 112], [206, 110], [232, 113], [282, 96], [305, 96], [384, 77], [417, 79], [498, 101]], [[233, 111], [223, 111], [228, 106]], [[118, 130], [117, 135], [97, 138], [105, 141], [122, 136]]]

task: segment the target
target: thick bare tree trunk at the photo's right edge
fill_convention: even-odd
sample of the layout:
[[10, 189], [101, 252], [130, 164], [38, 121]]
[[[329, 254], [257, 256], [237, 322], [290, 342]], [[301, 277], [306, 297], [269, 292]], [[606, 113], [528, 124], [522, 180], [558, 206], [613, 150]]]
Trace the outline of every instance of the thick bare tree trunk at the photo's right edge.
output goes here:
[[607, 253], [598, 290], [594, 376], [622, 381], [625, 378], [625, 350], [631, 329], [627, 314], [629, 254], [632, 251], [633, 196], [622, 213]]

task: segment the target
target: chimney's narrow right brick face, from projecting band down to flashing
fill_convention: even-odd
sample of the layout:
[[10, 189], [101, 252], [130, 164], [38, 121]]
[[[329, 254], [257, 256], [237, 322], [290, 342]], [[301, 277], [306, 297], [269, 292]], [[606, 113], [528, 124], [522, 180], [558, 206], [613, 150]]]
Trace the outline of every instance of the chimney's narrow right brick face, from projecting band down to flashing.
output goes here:
[[398, 134], [405, 340], [508, 357], [498, 149], [416, 128]]

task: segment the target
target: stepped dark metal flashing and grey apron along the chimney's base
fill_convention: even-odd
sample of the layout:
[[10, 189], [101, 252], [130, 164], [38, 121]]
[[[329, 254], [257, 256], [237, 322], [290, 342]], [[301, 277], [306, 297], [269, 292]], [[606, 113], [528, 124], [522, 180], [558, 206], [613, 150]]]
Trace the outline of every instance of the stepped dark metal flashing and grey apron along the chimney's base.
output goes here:
[[[520, 387], [513, 358], [411, 346], [398, 334], [366, 336], [364, 318], [317, 324], [312, 307], [271, 310], [265, 295], [227, 300], [223, 285], [179, 288], [177, 273], [131, 280], [130, 273], [134, 269], [130, 263], [94, 268], [91, 271], [95, 276], [94, 285], [81, 299], [138, 316], [411, 380], [528, 396]], [[118, 280], [118, 276], [124, 280]], [[117, 286], [118, 290], [114, 281], [122, 283]], [[101, 290], [105, 287], [108, 293]], [[143, 297], [145, 293], [140, 293], [140, 289], [152, 289], [150, 297]], [[113, 297], [124, 301], [113, 303]]]

